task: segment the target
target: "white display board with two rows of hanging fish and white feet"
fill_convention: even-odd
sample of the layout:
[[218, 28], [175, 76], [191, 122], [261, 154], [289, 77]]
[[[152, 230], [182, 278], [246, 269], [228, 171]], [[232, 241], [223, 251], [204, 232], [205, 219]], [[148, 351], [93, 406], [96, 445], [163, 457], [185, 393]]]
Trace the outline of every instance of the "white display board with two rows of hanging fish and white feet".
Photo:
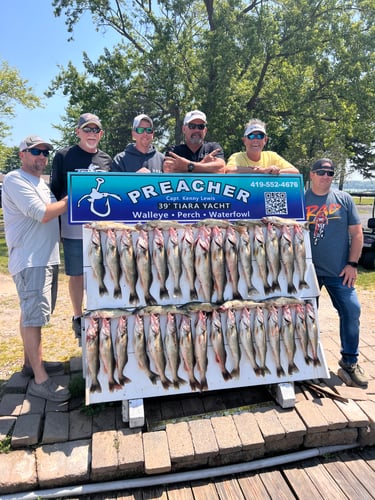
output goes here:
[[87, 404], [138, 427], [144, 398], [267, 385], [285, 408], [329, 377], [304, 223], [93, 222], [83, 242]]

